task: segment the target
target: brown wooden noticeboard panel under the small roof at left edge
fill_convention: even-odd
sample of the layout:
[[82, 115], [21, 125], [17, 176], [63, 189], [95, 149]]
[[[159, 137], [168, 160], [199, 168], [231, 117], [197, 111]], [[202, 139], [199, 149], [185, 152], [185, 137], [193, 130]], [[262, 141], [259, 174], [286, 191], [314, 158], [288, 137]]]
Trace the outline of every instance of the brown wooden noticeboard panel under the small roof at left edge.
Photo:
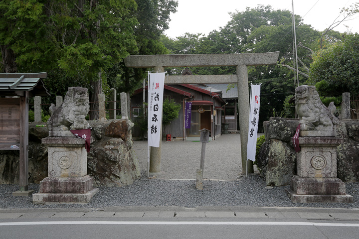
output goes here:
[[19, 150], [20, 119], [20, 98], [0, 98], [0, 150]]

